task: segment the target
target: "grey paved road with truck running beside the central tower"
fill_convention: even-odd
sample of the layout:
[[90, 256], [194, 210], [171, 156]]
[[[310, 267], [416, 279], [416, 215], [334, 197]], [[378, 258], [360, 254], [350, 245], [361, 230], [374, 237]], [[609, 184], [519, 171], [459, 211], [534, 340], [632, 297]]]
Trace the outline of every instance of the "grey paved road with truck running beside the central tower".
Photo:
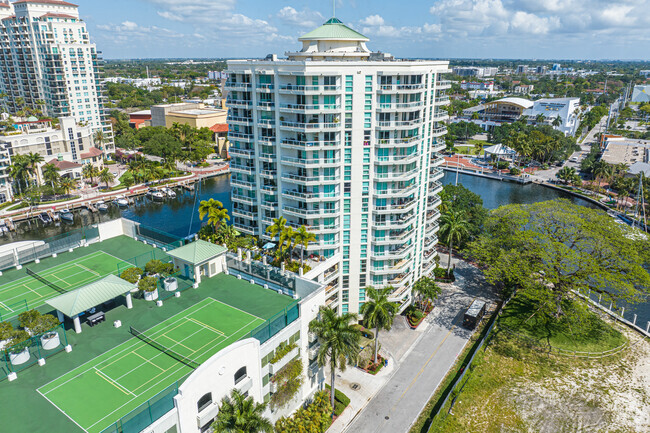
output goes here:
[[460, 326], [465, 309], [477, 295], [486, 300], [492, 297], [484, 284], [477, 283], [481, 281], [478, 272], [476, 268], [459, 264], [457, 273], [462, 276], [457, 284], [463, 290], [452, 288], [443, 292], [422, 339], [344, 431], [400, 433], [409, 430], [470, 337], [471, 333]]

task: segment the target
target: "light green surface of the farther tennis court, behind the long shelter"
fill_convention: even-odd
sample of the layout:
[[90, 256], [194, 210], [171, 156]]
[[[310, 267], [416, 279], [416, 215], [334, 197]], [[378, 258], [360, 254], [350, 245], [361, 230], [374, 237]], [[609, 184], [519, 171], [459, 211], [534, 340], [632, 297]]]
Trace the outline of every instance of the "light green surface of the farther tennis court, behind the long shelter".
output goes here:
[[[104, 251], [95, 251], [39, 271], [38, 275], [63, 290], [69, 291], [117, 272], [118, 263], [123, 262], [124, 260]], [[29, 268], [29, 265], [27, 267]], [[11, 316], [11, 313], [14, 312], [11, 306], [16, 305], [17, 302], [27, 301], [30, 308], [38, 308], [46, 300], [58, 295], [60, 295], [59, 292], [34, 277], [19, 278], [0, 286], [0, 315], [2, 317]]]

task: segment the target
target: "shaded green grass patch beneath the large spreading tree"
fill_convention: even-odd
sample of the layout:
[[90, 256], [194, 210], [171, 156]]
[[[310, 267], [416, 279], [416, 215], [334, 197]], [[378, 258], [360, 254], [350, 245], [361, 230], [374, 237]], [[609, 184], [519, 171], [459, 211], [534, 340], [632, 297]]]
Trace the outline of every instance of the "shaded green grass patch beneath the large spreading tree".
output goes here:
[[[565, 307], [570, 305], [567, 303]], [[604, 352], [625, 342], [619, 331], [592, 312], [569, 321], [566, 318], [547, 319], [542, 313], [535, 313], [536, 310], [532, 301], [518, 296], [503, 310], [500, 324], [535, 340], [540, 346], [551, 345], [565, 350]]]

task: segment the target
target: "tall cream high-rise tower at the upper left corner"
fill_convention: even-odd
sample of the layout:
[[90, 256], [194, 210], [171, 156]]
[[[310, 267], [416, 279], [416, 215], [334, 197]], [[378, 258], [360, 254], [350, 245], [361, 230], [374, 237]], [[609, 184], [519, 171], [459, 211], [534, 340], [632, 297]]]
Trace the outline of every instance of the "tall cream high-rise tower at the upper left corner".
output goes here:
[[22, 104], [50, 117], [72, 116], [103, 131], [113, 151], [104, 110], [100, 53], [90, 42], [77, 5], [61, 0], [19, 0], [0, 5], [0, 91], [10, 112]]

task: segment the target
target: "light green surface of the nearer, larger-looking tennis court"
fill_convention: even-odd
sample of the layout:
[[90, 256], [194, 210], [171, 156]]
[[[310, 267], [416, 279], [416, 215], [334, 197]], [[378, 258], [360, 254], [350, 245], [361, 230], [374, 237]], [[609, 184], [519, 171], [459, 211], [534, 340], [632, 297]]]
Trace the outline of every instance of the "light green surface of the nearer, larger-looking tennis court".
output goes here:
[[[257, 316], [206, 298], [144, 334], [200, 364], [262, 323]], [[95, 433], [191, 371], [134, 337], [43, 385], [38, 392], [84, 431]]]

